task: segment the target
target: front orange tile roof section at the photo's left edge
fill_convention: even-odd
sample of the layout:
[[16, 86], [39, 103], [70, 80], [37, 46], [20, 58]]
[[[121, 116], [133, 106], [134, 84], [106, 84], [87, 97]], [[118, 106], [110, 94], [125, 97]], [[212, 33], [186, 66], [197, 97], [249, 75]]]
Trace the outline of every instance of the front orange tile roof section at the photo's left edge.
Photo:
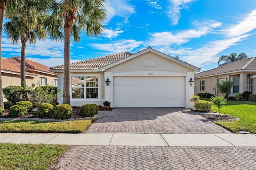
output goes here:
[[[1, 57], [1, 71], [7, 71], [10, 73], [18, 73], [20, 74], [20, 68], [17, 67], [16, 64], [11, 63], [8, 59]], [[33, 75], [36, 76], [34, 73], [30, 73], [28, 71], [25, 71], [26, 75]]]

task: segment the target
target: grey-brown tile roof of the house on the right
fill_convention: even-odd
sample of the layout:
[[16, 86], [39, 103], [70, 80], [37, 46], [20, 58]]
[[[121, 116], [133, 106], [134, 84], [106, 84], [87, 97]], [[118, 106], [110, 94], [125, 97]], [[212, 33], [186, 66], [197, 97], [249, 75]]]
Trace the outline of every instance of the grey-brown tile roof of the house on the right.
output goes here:
[[239, 71], [239, 70], [254, 70], [255, 71], [256, 70], [256, 57], [251, 57], [251, 58], [247, 58], [247, 59], [234, 61], [232, 63], [217, 67], [215, 69], [197, 73], [197, 74], [195, 74], [195, 78], [216, 75], [216, 74], [221, 74], [221, 73], [228, 73], [228, 72]]

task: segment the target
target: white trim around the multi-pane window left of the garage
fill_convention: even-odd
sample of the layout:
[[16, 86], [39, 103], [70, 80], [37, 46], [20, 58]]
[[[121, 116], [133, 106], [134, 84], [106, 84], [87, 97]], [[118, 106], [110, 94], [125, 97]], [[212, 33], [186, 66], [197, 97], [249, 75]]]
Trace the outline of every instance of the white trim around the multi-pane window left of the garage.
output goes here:
[[[78, 98], [78, 99], [73, 99], [72, 98], [72, 76], [98, 76], [98, 99], [96, 98]], [[100, 74], [70, 74], [70, 101], [101, 101], [100, 97], [100, 89], [101, 89], [101, 76]], [[85, 88], [85, 87], [84, 87]], [[85, 90], [85, 89], [84, 89]]]

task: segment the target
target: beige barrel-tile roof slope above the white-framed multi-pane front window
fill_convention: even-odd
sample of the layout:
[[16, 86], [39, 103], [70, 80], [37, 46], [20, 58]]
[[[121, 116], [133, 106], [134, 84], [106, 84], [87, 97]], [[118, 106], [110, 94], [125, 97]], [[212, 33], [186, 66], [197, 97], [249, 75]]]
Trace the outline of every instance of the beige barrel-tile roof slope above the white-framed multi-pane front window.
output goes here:
[[[106, 55], [103, 57], [93, 58], [93, 59], [87, 59], [84, 61], [78, 61], [70, 64], [70, 69], [73, 70], [80, 70], [80, 69], [94, 69], [94, 68], [101, 68], [105, 65], [114, 63], [120, 59], [129, 57], [130, 55], [133, 55], [133, 53], [130, 52], [122, 52], [122, 53], [116, 53], [112, 55]], [[62, 70], [64, 69], [64, 65], [58, 65], [55, 67], [50, 67], [52, 70]]]

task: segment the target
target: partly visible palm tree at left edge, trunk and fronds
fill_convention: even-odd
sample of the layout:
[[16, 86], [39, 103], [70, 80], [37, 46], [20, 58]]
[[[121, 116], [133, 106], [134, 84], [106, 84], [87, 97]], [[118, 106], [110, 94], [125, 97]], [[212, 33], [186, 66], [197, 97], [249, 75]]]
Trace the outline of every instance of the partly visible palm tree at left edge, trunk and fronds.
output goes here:
[[[3, 28], [3, 18], [4, 11], [7, 10], [19, 10], [24, 6], [23, 0], [0, 0], [0, 57], [1, 55], [1, 43], [2, 43], [2, 28]], [[0, 107], [4, 109], [4, 97], [2, 89], [2, 73], [1, 73], [1, 59], [0, 59]]]

